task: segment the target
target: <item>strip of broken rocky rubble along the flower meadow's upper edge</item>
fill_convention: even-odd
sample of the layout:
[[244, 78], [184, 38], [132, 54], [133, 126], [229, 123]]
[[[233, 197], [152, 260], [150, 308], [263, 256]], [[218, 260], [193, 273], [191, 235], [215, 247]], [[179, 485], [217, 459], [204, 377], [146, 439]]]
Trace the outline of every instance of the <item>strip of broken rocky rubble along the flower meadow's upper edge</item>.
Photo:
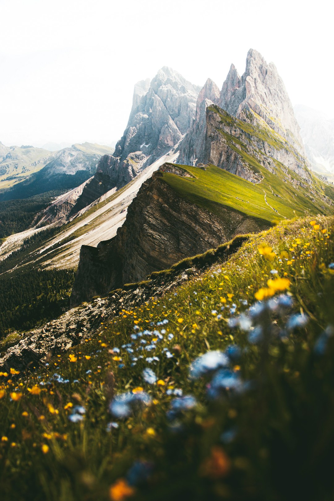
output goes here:
[[0, 353], [0, 370], [11, 367], [19, 370], [37, 367], [41, 360], [62, 353], [84, 343], [101, 331], [101, 322], [119, 316], [124, 309], [132, 309], [164, 294], [189, 280], [200, 279], [201, 273], [217, 262], [226, 261], [248, 239], [238, 236], [217, 249], [174, 265], [161, 273], [153, 273], [147, 281], [129, 284], [112, 291], [107, 297], [93, 298], [46, 325], [22, 334], [7, 344]]

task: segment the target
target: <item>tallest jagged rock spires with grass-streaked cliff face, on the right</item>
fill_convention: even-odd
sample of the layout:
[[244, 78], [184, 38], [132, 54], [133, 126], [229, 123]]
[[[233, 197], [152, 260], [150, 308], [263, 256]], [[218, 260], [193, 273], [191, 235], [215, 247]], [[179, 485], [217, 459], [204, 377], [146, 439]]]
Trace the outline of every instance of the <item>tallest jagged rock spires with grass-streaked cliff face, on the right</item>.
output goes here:
[[245, 73], [239, 77], [231, 65], [220, 94], [210, 79], [206, 82], [178, 162], [213, 163], [252, 182], [261, 180], [261, 167], [273, 173], [279, 162], [287, 181], [294, 182], [290, 169], [311, 182], [299, 126], [272, 63], [251, 49]]

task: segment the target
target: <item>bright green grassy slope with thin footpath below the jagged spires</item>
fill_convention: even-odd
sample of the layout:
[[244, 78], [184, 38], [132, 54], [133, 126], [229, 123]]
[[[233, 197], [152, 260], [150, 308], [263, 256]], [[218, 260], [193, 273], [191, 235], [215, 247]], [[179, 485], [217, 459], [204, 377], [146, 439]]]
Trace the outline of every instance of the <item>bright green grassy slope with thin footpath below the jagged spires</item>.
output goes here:
[[[294, 215], [328, 215], [334, 212], [331, 206], [321, 208], [323, 202], [319, 198], [312, 202], [305, 188], [300, 187], [297, 190], [289, 183], [282, 182], [278, 168], [278, 172], [272, 174], [259, 165], [264, 179], [254, 185], [214, 165], [207, 166], [206, 170], [188, 165], [181, 167], [190, 172], [194, 178], [162, 172], [162, 179], [180, 196], [213, 212], [219, 210], [216, 204], [221, 204], [268, 222], [284, 217], [291, 218]], [[265, 193], [270, 206], [265, 202]]]

